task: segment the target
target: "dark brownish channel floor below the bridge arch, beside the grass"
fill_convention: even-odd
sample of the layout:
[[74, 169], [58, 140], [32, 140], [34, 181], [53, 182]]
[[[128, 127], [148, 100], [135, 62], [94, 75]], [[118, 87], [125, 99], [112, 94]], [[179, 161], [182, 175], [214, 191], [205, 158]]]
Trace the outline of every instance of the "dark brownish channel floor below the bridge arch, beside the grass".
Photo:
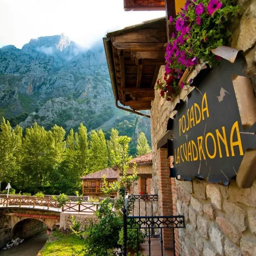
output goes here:
[[0, 256], [36, 256], [47, 241], [47, 234], [41, 233], [9, 250], [0, 250]]

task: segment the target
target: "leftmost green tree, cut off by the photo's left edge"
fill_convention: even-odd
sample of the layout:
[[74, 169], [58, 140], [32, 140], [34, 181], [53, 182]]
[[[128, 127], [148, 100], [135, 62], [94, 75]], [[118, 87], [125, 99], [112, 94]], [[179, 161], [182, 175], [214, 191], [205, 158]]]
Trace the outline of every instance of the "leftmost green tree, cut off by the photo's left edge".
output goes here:
[[22, 129], [13, 129], [2, 117], [0, 125], [0, 186], [3, 180], [10, 181], [20, 168]]

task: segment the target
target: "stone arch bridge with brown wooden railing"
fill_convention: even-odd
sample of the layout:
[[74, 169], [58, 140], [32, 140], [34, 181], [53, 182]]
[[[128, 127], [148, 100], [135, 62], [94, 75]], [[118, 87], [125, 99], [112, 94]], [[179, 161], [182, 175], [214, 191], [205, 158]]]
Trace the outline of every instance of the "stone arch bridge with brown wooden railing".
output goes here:
[[65, 230], [70, 226], [71, 216], [82, 224], [96, 221], [97, 208], [97, 204], [90, 202], [68, 202], [61, 207], [50, 198], [0, 198], [0, 248], [11, 239], [26, 239], [47, 227]]

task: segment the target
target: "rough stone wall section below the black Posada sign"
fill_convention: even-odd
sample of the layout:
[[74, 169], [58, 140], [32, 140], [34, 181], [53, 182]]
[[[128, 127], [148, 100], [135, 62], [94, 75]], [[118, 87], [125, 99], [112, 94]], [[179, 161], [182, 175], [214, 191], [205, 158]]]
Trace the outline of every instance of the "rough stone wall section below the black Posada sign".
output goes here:
[[178, 181], [177, 211], [185, 215], [179, 229], [181, 255], [256, 255], [256, 181], [240, 189], [204, 181]]

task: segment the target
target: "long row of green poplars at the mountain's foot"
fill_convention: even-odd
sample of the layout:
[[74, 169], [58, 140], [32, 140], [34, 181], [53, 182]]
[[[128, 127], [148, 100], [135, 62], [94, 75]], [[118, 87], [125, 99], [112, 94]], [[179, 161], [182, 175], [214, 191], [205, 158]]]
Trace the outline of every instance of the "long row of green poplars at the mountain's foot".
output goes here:
[[[100, 171], [108, 165], [128, 163], [123, 152], [131, 139], [111, 131], [108, 142], [102, 130], [91, 131], [80, 124], [65, 137], [64, 128], [49, 131], [35, 123], [22, 131], [2, 118], [0, 124], [0, 182], [11, 182], [16, 191], [68, 195], [81, 192], [82, 175]], [[124, 141], [125, 140], [125, 141]], [[120, 158], [121, 157], [121, 158]], [[2, 188], [3, 189], [3, 188]]]

